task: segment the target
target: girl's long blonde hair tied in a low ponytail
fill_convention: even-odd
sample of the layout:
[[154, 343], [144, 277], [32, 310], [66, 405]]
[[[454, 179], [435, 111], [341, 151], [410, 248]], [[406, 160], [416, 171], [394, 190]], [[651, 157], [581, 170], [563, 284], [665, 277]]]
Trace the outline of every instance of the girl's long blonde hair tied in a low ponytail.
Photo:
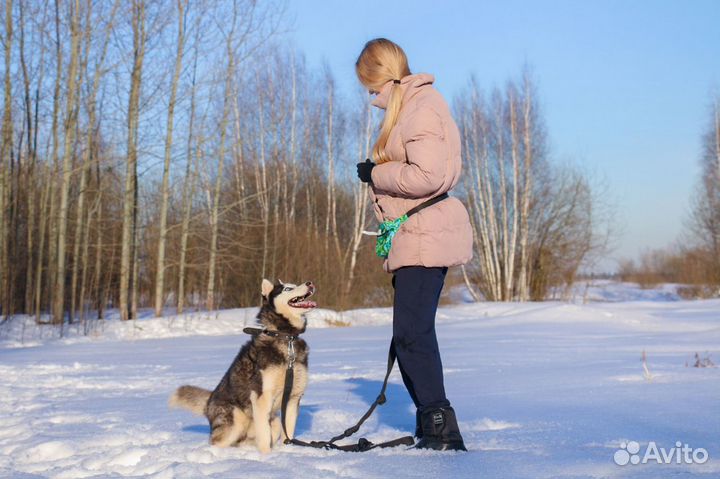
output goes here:
[[[355, 73], [366, 88], [379, 92], [391, 80], [400, 80], [410, 75], [407, 56], [399, 45], [386, 38], [375, 38], [365, 44], [355, 62]], [[383, 118], [380, 134], [373, 145], [372, 156], [375, 163], [385, 163], [389, 160], [385, 154], [390, 132], [397, 123], [400, 108], [402, 107], [402, 90], [400, 85], [393, 82], [390, 86], [385, 117]]]

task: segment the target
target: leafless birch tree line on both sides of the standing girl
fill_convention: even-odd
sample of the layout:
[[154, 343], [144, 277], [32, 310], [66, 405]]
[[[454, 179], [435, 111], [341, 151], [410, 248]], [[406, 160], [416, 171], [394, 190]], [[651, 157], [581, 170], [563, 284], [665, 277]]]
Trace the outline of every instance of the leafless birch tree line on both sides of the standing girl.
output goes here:
[[[379, 112], [285, 38], [282, 3], [6, 0], [0, 306], [38, 321], [252, 306], [263, 277], [386, 304], [367, 186]], [[348, 61], [352, 61], [349, 59]], [[452, 100], [478, 299], [542, 299], [604, 242], [597, 190], [552, 161], [528, 69]]]

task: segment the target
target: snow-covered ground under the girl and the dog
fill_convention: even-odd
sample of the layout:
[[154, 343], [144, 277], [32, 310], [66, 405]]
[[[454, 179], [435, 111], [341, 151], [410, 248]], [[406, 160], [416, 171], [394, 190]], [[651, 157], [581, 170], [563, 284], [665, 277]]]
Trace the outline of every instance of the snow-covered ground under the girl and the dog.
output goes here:
[[[16, 318], [0, 331], [0, 477], [720, 477], [720, 368], [693, 367], [695, 353], [720, 364], [720, 300], [663, 292], [441, 308], [446, 389], [468, 453], [208, 446], [204, 419], [168, 410], [167, 397], [180, 384], [215, 386], [248, 339], [251, 309], [109, 320], [88, 335], [72, 325], [61, 339]], [[373, 401], [390, 322], [389, 309], [313, 313], [300, 438], [338, 434]], [[388, 402], [358, 436], [413, 428], [396, 371]], [[640, 456], [650, 441], [667, 453], [680, 441], [709, 458], [619, 466], [613, 457], [628, 441]]]

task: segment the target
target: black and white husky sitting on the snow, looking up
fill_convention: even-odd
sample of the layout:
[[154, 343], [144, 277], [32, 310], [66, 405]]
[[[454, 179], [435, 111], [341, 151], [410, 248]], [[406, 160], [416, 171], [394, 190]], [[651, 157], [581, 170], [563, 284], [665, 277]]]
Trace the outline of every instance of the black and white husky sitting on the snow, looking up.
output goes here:
[[[311, 282], [301, 285], [272, 284], [262, 281], [262, 306], [257, 315], [260, 324], [278, 335], [254, 335], [241, 349], [214, 391], [196, 386], [181, 386], [170, 397], [171, 407], [181, 407], [210, 422], [210, 444], [235, 446], [254, 440], [257, 448], [270, 452], [282, 432], [278, 413], [290, 359], [288, 335], [305, 331], [304, 315], [316, 307], [310, 296]], [[295, 434], [298, 406], [307, 385], [309, 348], [300, 338], [294, 340], [295, 363], [292, 393], [286, 411], [290, 439]]]

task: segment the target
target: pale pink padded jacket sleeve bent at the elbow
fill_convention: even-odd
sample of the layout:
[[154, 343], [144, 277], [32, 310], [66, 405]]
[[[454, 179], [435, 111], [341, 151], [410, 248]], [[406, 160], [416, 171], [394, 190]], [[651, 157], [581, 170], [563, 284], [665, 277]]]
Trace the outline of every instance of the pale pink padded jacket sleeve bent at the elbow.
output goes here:
[[407, 162], [388, 161], [372, 169], [380, 190], [409, 198], [422, 198], [440, 189], [445, 179], [447, 144], [440, 116], [420, 107], [403, 127]]

